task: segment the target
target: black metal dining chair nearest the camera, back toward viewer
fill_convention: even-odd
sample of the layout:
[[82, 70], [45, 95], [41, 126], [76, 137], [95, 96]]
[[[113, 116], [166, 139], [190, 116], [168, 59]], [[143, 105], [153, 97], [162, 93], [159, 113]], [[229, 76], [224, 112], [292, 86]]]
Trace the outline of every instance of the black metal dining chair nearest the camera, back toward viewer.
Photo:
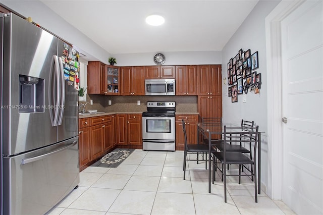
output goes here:
[[[258, 143], [258, 126], [253, 127], [252, 129], [245, 131], [242, 127], [226, 127], [224, 126], [223, 133], [223, 150], [217, 150], [212, 152], [212, 164], [213, 172], [212, 178], [213, 183], [216, 179], [216, 170], [219, 169], [224, 181], [224, 192], [225, 192], [225, 202], [227, 202], [227, 176], [239, 176], [239, 184], [241, 183], [241, 176], [254, 177], [254, 189], [255, 189], [255, 202], [257, 202], [257, 176], [256, 176], [256, 163], [255, 155], [256, 148]], [[249, 143], [252, 145], [252, 157], [249, 157], [248, 154], [239, 151], [228, 151], [227, 147], [236, 143]], [[238, 165], [239, 174], [227, 174], [226, 165]], [[220, 167], [218, 166], [220, 165]], [[250, 165], [251, 168], [248, 167]], [[241, 169], [244, 167], [248, 174], [241, 174]]]

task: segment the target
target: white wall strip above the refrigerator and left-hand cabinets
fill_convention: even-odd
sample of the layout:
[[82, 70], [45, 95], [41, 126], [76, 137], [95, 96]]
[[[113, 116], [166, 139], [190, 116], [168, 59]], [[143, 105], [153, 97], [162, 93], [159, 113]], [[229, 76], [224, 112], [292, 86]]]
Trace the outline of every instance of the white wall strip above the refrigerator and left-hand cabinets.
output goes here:
[[[109, 52], [94, 43], [40, 1], [0, 0], [0, 3], [24, 17], [31, 17], [33, 22], [73, 44], [73, 47], [87, 56], [84, 60], [98, 60], [109, 64], [107, 61], [110, 57]], [[65, 5], [62, 2], [62, 10], [66, 10], [66, 13], [74, 13], [68, 10], [69, 7], [73, 8], [73, 6]]]

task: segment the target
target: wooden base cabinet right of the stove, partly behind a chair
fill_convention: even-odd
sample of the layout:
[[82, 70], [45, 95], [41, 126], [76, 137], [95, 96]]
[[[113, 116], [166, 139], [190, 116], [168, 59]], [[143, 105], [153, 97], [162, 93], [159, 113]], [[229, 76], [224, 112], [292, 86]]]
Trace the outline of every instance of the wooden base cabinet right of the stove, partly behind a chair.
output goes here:
[[185, 121], [185, 129], [187, 136], [188, 144], [197, 143], [197, 123], [198, 123], [198, 114], [189, 114], [189, 115], [176, 115], [175, 116], [175, 125], [176, 125], [176, 150], [184, 150], [185, 139], [182, 126], [182, 119]]

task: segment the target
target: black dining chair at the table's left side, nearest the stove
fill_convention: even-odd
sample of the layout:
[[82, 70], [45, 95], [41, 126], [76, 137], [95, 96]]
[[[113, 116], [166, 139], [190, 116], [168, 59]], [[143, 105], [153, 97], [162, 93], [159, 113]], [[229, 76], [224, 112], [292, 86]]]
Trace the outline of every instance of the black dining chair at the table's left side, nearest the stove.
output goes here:
[[[208, 145], [206, 144], [188, 144], [187, 143], [187, 135], [186, 135], [186, 128], [185, 128], [185, 121], [182, 120], [183, 132], [184, 132], [184, 164], [183, 164], [183, 171], [184, 171], [184, 180], [185, 180], [185, 172], [186, 172], [186, 161], [187, 160], [196, 160], [198, 162], [198, 154], [199, 153], [208, 153]], [[196, 159], [187, 159], [187, 154], [196, 154]], [[205, 160], [205, 168], [206, 168], [206, 160]]]

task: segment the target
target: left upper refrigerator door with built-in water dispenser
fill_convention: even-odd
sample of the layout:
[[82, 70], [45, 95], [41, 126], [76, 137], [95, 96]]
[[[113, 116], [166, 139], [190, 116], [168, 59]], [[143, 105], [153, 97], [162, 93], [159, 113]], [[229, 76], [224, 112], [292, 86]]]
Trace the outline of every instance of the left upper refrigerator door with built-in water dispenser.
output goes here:
[[50, 73], [58, 39], [11, 14], [4, 18], [3, 122], [5, 155], [57, 142], [50, 119]]

